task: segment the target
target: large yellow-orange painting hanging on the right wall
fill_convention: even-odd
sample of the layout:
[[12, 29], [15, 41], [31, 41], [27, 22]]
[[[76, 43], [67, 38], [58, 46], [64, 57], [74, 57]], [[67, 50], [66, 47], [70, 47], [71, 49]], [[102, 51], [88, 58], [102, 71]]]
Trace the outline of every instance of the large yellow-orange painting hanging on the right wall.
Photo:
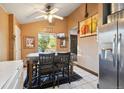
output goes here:
[[95, 14], [79, 22], [80, 37], [91, 36], [96, 34], [98, 15]]

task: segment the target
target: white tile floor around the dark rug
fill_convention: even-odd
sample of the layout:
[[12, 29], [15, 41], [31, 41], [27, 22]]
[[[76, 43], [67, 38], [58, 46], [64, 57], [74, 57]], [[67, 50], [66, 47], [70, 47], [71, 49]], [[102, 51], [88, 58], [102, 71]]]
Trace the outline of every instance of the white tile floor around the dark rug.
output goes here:
[[[79, 81], [71, 82], [71, 84], [62, 84], [55, 89], [97, 89], [98, 77], [77, 67], [74, 66], [74, 71], [82, 76], [83, 78]], [[24, 70], [24, 79], [26, 77], [26, 69]], [[48, 88], [51, 89], [52, 87]]]

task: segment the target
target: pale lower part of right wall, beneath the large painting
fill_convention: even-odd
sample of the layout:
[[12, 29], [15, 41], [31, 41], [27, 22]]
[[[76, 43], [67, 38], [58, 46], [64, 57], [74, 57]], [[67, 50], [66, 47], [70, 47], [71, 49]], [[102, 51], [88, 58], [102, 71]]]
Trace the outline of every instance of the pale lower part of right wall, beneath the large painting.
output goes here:
[[78, 64], [96, 73], [99, 71], [97, 37], [79, 38]]

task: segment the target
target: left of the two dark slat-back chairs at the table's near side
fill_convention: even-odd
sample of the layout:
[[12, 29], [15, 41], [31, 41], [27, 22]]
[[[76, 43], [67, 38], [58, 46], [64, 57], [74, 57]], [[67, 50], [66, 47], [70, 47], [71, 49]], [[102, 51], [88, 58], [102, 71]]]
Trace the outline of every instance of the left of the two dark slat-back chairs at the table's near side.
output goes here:
[[[51, 54], [39, 54], [39, 65], [38, 65], [38, 85], [44, 85], [48, 83], [46, 78], [49, 78], [55, 86], [54, 76], [54, 53]], [[42, 80], [41, 80], [42, 79]]]

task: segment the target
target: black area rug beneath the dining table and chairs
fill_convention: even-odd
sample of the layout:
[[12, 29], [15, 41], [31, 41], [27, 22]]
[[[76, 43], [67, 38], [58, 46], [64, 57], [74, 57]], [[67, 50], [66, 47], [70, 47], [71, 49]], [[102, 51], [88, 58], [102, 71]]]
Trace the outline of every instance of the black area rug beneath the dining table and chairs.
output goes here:
[[[82, 79], [82, 77], [80, 75], [73, 72], [73, 75], [70, 77], [70, 82], [78, 81], [78, 80], [81, 80], [81, 79]], [[53, 83], [50, 80], [48, 80], [48, 78], [45, 78], [45, 80], [48, 81], [48, 82], [43, 84], [42, 86], [38, 86], [38, 83], [36, 82], [36, 80], [34, 80], [32, 82], [32, 89], [45, 89], [45, 88], [52, 87]], [[60, 77], [59, 85], [66, 84], [66, 83], [68, 83], [68, 78], [66, 76], [65, 77]], [[57, 86], [57, 82], [56, 82], [55, 85]], [[24, 82], [24, 87], [28, 88], [28, 78], [27, 77], [26, 77], [26, 80]]]

